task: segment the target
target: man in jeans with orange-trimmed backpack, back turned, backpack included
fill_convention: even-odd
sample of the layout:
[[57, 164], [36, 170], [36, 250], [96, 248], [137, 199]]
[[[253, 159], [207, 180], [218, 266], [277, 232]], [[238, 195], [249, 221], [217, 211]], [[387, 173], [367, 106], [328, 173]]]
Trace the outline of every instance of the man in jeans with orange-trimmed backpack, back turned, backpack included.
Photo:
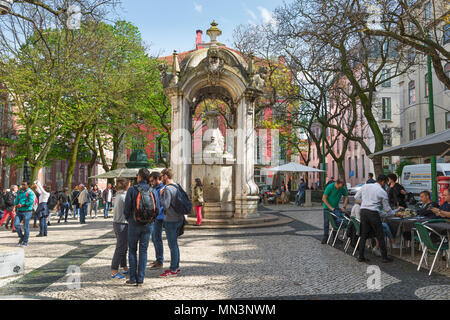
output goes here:
[[[128, 286], [144, 283], [147, 267], [147, 250], [151, 235], [151, 225], [159, 214], [159, 197], [150, 190], [150, 171], [140, 169], [137, 184], [130, 187], [125, 197], [124, 216], [128, 221], [128, 262], [130, 279]], [[137, 248], [139, 245], [139, 262]]]

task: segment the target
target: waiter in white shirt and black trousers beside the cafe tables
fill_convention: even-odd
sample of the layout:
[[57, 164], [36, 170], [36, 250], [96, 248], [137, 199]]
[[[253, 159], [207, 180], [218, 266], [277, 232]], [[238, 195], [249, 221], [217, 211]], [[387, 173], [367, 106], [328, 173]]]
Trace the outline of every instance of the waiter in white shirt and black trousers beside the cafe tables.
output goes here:
[[385, 175], [377, 177], [377, 183], [365, 184], [355, 195], [355, 200], [361, 203], [361, 229], [359, 244], [359, 262], [366, 262], [368, 259], [364, 256], [366, 240], [369, 233], [374, 232], [381, 250], [382, 262], [391, 262], [392, 259], [387, 255], [385, 233], [381, 222], [380, 208], [384, 208], [386, 215], [397, 215], [389, 205], [389, 199], [384, 187], [387, 183]]

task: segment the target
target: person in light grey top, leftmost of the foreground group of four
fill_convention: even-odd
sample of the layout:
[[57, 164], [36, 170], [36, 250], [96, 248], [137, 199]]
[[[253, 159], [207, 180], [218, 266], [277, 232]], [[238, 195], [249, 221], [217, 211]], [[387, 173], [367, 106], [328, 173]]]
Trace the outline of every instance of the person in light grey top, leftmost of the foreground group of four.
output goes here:
[[[111, 279], [124, 279], [128, 274], [127, 251], [128, 251], [128, 221], [124, 215], [125, 197], [130, 181], [126, 179], [117, 180], [117, 194], [114, 200], [113, 229], [116, 235], [116, 250], [111, 262]], [[119, 267], [122, 272], [119, 272]]]

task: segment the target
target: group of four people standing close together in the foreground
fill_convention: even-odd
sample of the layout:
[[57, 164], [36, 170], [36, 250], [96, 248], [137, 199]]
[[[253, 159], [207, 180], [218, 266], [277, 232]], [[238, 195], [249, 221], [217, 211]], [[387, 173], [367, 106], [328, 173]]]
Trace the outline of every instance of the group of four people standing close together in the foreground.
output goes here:
[[[130, 181], [126, 179], [118, 179], [116, 189], [113, 228], [117, 243], [111, 263], [111, 279], [125, 279], [128, 275], [126, 285], [143, 284], [150, 238], [156, 254], [156, 260], [150, 268], [163, 268], [163, 228], [170, 248], [170, 267], [160, 277], [177, 276], [181, 272], [178, 237], [183, 233], [185, 224], [185, 212], [179, 210], [178, 201], [180, 194], [185, 195], [185, 192], [174, 183], [173, 171], [164, 169], [161, 173], [150, 173], [147, 169], [140, 169], [135, 185], [130, 186]], [[146, 201], [149, 195], [153, 199], [151, 206], [157, 213], [154, 220], [142, 222], [146, 220], [139, 218], [141, 201]]]

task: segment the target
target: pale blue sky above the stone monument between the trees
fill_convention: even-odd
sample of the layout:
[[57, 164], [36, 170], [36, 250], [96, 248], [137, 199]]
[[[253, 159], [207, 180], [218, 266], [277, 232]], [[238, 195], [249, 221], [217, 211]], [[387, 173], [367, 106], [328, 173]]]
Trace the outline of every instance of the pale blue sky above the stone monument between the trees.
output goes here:
[[232, 47], [233, 30], [240, 24], [274, 23], [273, 10], [282, 0], [122, 0], [116, 17], [121, 17], [141, 31], [150, 52], [170, 55], [195, 49], [196, 30], [206, 30], [213, 20], [223, 34], [219, 41]]

